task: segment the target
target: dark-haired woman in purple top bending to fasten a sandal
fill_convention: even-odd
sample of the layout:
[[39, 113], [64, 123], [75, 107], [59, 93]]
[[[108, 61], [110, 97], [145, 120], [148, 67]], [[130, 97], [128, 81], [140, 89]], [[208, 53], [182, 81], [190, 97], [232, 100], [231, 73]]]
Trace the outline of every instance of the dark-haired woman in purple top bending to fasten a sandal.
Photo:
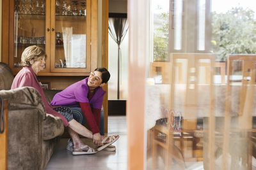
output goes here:
[[[108, 83], [109, 78], [110, 74], [108, 70], [104, 67], [99, 67], [91, 72], [88, 78], [78, 81], [56, 94], [51, 102], [52, 106], [68, 107], [72, 111], [79, 111], [79, 117], [86, 119], [86, 122], [88, 122], [88, 125], [92, 129], [93, 142], [98, 145], [102, 141], [115, 141], [118, 138], [118, 136], [111, 136], [109, 138], [100, 136], [100, 109], [104, 94], [106, 93], [102, 87]], [[74, 132], [70, 132], [70, 136], [73, 141], [74, 139], [80, 140], [79, 136]], [[69, 145], [70, 143], [68, 143]], [[101, 150], [102, 147], [99, 149]], [[106, 150], [114, 151], [115, 146], [108, 146]]]

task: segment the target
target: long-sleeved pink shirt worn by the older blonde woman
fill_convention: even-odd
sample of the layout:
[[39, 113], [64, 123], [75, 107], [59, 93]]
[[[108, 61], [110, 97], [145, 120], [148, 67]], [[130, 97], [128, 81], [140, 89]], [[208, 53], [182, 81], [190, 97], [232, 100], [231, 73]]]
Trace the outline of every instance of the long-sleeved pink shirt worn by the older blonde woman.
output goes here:
[[58, 111], [52, 109], [52, 106], [49, 105], [44, 96], [44, 90], [42, 89], [40, 83], [36, 79], [36, 74], [31, 67], [23, 67], [19, 73], [15, 76], [11, 89], [15, 89], [18, 87], [34, 87], [38, 90], [41, 95], [42, 101], [45, 106], [45, 111], [48, 114], [54, 115], [54, 117], [60, 117], [63, 124], [67, 127], [68, 121], [63, 115], [61, 115]]

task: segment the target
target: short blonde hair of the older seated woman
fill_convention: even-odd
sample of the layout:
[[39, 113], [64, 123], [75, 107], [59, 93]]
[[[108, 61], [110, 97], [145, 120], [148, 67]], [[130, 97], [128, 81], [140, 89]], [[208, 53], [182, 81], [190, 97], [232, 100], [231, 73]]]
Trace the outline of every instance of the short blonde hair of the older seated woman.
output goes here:
[[46, 53], [40, 46], [28, 46], [25, 48], [25, 50], [22, 52], [21, 55], [21, 63], [20, 65], [25, 67], [25, 66], [31, 66], [30, 60], [40, 60], [42, 57], [47, 57]]

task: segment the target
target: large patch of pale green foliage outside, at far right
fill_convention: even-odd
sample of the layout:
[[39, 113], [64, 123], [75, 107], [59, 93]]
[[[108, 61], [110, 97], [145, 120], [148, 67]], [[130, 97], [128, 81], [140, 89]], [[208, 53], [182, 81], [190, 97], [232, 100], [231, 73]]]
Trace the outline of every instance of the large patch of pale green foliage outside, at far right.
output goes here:
[[216, 60], [228, 54], [256, 53], [256, 20], [252, 10], [232, 8], [227, 13], [212, 13], [212, 52]]

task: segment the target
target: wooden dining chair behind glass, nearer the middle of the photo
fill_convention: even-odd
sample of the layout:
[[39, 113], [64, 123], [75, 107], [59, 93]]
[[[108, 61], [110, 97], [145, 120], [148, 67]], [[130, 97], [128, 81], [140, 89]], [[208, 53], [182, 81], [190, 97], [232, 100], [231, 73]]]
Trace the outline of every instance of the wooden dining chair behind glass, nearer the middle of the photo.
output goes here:
[[[186, 161], [202, 160], [202, 147], [198, 149], [196, 146], [196, 138], [194, 132], [197, 129], [197, 111], [199, 79], [201, 76], [200, 63], [208, 62], [204, 73], [209, 73], [209, 149], [214, 148], [214, 86], [213, 73], [215, 64], [215, 55], [209, 53], [172, 53], [170, 60], [170, 111], [167, 118], [161, 121], [164, 124], [156, 124], [154, 127], [153, 140], [153, 169], [156, 167], [157, 147], [161, 146], [166, 150], [164, 164], [165, 169], [171, 169], [172, 159], [178, 162], [180, 169], [186, 169]], [[202, 72], [202, 71], [201, 71]], [[183, 76], [180, 78], [180, 76]], [[180, 87], [183, 88], [184, 97], [180, 92]], [[178, 99], [179, 98], [179, 99]], [[177, 113], [180, 113], [180, 115]], [[181, 117], [181, 118], [179, 118]], [[179, 120], [179, 121], [176, 121]], [[179, 128], [177, 128], [179, 122]], [[176, 129], [173, 129], [176, 126]], [[198, 140], [197, 140], [198, 141]], [[200, 154], [201, 153], [201, 154]], [[214, 159], [214, 149], [211, 149], [209, 160]]]

